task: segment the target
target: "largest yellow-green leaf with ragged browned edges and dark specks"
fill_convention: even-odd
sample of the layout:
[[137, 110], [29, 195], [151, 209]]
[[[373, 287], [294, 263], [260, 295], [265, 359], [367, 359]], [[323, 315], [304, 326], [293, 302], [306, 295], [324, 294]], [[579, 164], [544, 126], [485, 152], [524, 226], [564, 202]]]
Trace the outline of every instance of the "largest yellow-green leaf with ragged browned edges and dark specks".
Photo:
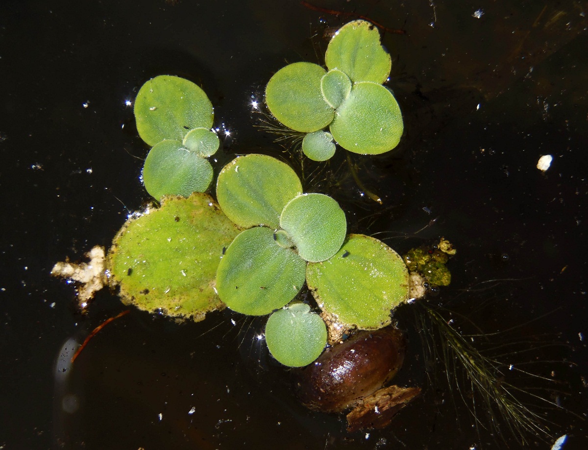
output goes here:
[[223, 308], [216, 269], [239, 231], [209, 195], [166, 197], [115, 236], [107, 262], [111, 286], [119, 286], [125, 304], [202, 320]]

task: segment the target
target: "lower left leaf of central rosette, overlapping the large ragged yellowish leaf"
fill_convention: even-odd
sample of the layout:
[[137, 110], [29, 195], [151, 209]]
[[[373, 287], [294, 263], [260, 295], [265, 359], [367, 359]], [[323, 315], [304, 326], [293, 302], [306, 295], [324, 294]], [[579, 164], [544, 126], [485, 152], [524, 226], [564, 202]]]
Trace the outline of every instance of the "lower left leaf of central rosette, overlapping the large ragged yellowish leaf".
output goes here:
[[306, 262], [282, 248], [273, 231], [256, 226], [239, 234], [216, 272], [220, 299], [233, 311], [265, 315], [288, 304], [304, 284]]

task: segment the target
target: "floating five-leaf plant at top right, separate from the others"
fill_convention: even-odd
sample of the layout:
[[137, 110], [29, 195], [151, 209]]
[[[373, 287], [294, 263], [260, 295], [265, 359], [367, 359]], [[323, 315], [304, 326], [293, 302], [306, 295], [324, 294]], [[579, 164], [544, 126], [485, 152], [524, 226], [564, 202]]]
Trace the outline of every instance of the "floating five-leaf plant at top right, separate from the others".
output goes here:
[[391, 61], [372, 24], [349, 22], [329, 42], [327, 69], [310, 62], [285, 66], [269, 80], [266, 103], [283, 125], [307, 133], [302, 150], [310, 159], [329, 159], [335, 142], [359, 154], [387, 152], [403, 132], [396, 99], [382, 85]]

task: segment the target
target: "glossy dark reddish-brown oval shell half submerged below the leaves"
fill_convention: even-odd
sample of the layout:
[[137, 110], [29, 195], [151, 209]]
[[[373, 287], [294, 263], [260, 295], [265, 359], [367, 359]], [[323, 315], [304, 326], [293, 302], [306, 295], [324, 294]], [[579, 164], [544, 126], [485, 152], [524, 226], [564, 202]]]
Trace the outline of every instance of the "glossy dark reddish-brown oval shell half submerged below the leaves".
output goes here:
[[315, 411], [343, 411], [390, 381], [402, 367], [405, 349], [397, 328], [360, 331], [299, 369], [296, 396]]

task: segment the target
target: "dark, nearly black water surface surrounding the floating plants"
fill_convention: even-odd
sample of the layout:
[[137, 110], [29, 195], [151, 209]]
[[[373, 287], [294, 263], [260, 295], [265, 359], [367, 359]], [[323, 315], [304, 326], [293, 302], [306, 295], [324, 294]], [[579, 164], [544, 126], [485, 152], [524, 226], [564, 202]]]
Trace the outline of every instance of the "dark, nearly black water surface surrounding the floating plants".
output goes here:
[[[305, 187], [333, 195], [350, 231], [379, 233], [401, 253], [450, 239], [453, 282], [434, 303], [485, 332], [516, 327], [492, 337], [519, 342], [502, 352], [501, 370], [509, 377], [516, 362], [553, 378], [515, 381], [570, 411], [539, 409], [553, 438], [527, 436], [529, 447], [548, 449], [567, 433], [564, 449], [588, 448], [588, 3], [316, 5], [407, 31], [382, 38], [405, 136], [393, 154], [354, 156], [382, 206], [360, 195], [341, 151]], [[298, 1], [2, 1], [0, 448], [520, 448], [507, 428], [502, 438], [492, 431], [483, 404], [475, 426], [457, 388], [443, 383], [459, 374], [440, 366], [439, 384], [427, 382], [432, 362], [415, 331], [422, 311], [409, 306], [397, 314], [410, 339], [397, 382], [425, 395], [369, 435], [299, 405], [288, 372], [257, 339], [263, 321], [229, 312], [175, 324], [132, 309], [72, 371], [55, 372], [68, 339], [81, 342], [125, 309], [105, 291], [82, 316], [72, 286], [49, 276], [56, 261], [108, 246], [129, 210], [148, 201], [138, 180], [148, 149], [125, 102], [152, 76], [185, 76], [231, 132], [217, 171], [238, 152], [278, 154], [252, 127], [251, 102], [262, 102], [286, 62], [322, 64], [323, 31], [351, 18]], [[544, 154], [553, 163], [543, 173], [535, 165]]]

